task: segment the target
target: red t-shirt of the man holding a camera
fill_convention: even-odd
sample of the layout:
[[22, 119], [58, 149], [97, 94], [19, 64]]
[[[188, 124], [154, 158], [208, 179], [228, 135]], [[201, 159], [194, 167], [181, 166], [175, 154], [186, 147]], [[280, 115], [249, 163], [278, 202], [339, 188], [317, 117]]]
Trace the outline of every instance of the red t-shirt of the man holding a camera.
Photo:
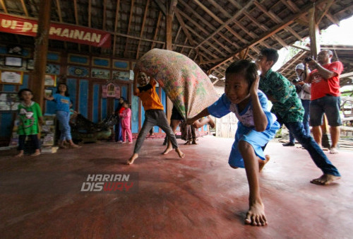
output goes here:
[[[337, 73], [337, 76], [333, 76], [325, 80], [321, 75], [316, 75], [311, 79], [311, 100], [323, 98], [326, 95], [340, 96], [340, 74], [343, 71], [342, 62], [333, 62], [323, 65], [323, 68], [328, 69]], [[315, 69], [311, 71], [310, 76], [317, 72]]]

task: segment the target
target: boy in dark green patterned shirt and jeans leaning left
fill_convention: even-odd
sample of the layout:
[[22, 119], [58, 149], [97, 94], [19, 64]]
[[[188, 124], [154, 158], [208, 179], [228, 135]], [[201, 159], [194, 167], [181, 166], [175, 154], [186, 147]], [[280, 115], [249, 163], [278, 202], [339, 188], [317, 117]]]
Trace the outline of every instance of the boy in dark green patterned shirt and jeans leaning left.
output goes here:
[[328, 185], [340, 179], [341, 175], [337, 168], [328, 160], [321, 147], [316, 144], [316, 141], [304, 132], [302, 123], [304, 109], [301, 106], [294, 87], [291, 86], [291, 83], [285, 76], [272, 70], [278, 57], [276, 49], [261, 49], [261, 53], [256, 58], [256, 65], [258, 66], [258, 70], [261, 71], [258, 88], [273, 103], [271, 112], [275, 112], [277, 122], [281, 125], [285, 124], [287, 129], [294, 134], [295, 139], [308, 151], [316, 166], [323, 172], [321, 177], [313, 179], [310, 182], [317, 185]]

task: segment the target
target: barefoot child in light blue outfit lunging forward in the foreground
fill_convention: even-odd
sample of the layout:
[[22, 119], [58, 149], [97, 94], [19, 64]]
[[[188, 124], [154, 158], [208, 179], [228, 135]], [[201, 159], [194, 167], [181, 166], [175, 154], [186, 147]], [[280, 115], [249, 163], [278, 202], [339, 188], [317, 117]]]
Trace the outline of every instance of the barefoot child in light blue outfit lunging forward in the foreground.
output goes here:
[[268, 111], [268, 99], [258, 90], [258, 68], [255, 63], [240, 60], [230, 64], [225, 71], [225, 94], [213, 105], [188, 119], [189, 124], [201, 117], [223, 117], [229, 112], [239, 119], [235, 141], [229, 156], [232, 168], [245, 168], [249, 183], [249, 211], [245, 223], [265, 226], [265, 209], [260, 195], [258, 174], [270, 156], [265, 156], [262, 146], [274, 138], [280, 124]]

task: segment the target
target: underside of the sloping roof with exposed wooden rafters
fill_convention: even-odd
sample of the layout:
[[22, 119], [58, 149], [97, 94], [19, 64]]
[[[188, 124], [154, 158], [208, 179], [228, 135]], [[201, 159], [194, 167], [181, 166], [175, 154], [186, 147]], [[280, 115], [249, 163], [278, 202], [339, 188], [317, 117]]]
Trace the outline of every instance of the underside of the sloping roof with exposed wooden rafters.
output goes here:
[[[37, 18], [39, 2], [1, 0], [0, 12]], [[261, 47], [280, 49], [307, 37], [313, 5], [308, 0], [53, 0], [52, 22], [106, 30], [113, 37], [110, 49], [58, 40], [49, 40], [49, 47], [138, 59], [154, 47], [165, 49], [166, 6], [171, 6], [173, 50], [222, 78], [241, 52], [254, 59]], [[316, 0], [315, 6], [320, 29], [353, 14], [352, 0]], [[33, 37], [0, 34], [2, 42], [34, 44]]]

